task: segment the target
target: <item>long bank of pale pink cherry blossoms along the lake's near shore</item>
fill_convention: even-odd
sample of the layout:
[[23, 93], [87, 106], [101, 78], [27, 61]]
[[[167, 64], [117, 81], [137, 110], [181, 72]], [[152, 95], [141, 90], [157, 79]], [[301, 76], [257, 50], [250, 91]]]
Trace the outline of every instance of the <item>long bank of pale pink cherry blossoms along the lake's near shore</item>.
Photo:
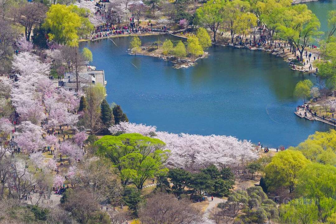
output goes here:
[[209, 164], [230, 165], [258, 157], [250, 141], [238, 140], [232, 136], [173, 134], [156, 131], [155, 126], [127, 122], [121, 122], [109, 130], [112, 134], [140, 133], [145, 136], [154, 132], [156, 138], [165, 142], [166, 148], [172, 153], [167, 161], [167, 165], [171, 167], [198, 169]]

